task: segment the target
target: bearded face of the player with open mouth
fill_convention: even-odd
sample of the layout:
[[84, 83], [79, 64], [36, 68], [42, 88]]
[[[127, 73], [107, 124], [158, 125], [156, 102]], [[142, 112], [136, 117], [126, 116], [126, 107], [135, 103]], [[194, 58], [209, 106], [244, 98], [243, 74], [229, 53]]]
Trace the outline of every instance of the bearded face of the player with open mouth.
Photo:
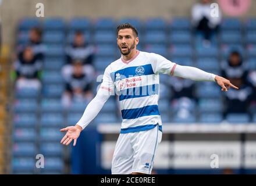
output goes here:
[[136, 49], [138, 44], [138, 37], [134, 37], [133, 30], [131, 28], [125, 28], [118, 32], [118, 48], [122, 55], [129, 55], [129, 53]]

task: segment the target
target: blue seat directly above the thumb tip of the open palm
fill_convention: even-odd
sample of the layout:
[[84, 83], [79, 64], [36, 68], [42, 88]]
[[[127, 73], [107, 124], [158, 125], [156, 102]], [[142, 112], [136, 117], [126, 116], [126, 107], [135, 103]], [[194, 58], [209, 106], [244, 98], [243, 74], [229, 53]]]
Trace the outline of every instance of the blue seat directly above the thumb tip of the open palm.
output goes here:
[[62, 127], [64, 119], [61, 113], [43, 113], [41, 115], [41, 127]]

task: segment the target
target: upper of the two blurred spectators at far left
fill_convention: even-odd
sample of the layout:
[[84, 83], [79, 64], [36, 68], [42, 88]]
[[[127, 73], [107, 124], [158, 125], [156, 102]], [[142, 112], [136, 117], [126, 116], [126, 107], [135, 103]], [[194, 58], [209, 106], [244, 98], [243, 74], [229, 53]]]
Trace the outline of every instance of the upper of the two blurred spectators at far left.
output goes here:
[[[45, 46], [44, 44], [42, 44], [41, 28], [31, 28], [31, 30], [29, 31], [29, 43], [27, 43], [26, 46], [27, 45], [29, 45], [33, 49], [33, 53], [38, 59], [42, 60], [44, 58]], [[18, 52], [23, 52], [26, 46], [19, 46]]]

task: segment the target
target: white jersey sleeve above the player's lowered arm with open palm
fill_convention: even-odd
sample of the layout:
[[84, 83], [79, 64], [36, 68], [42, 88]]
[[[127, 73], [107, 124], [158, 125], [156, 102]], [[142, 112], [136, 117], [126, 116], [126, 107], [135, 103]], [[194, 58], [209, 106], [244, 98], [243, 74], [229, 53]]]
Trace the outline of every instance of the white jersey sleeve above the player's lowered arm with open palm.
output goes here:
[[111, 66], [106, 67], [100, 88], [109, 91], [111, 94], [115, 92], [115, 84], [111, 78]]

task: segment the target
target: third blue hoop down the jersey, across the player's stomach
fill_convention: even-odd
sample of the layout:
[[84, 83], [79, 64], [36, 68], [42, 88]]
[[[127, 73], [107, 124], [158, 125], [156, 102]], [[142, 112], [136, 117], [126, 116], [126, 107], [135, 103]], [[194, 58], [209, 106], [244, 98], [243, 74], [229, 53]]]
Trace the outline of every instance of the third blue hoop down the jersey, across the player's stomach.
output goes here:
[[123, 109], [121, 112], [123, 119], [136, 119], [143, 116], [159, 115], [158, 105], [149, 105], [137, 109]]

